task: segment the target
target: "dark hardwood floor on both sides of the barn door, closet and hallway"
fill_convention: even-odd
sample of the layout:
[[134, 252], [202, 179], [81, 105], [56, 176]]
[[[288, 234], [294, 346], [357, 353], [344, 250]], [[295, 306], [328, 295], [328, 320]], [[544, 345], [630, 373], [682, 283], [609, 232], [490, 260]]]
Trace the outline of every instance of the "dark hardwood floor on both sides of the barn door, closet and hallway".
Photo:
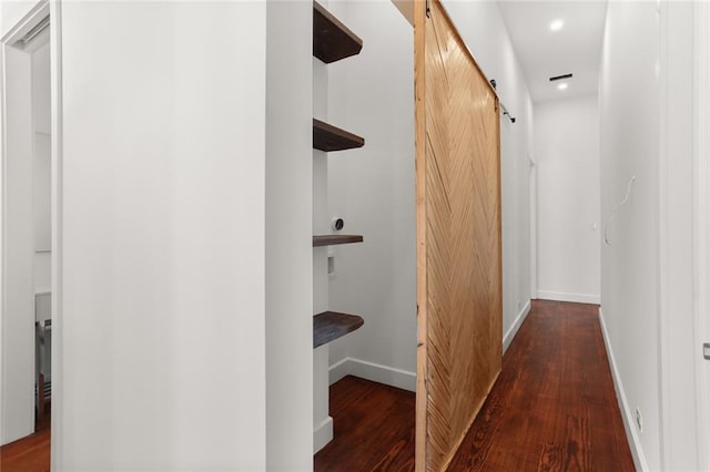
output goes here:
[[[346, 377], [316, 471], [414, 470], [414, 393]], [[532, 302], [449, 471], [633, 471], [598, 309]]]

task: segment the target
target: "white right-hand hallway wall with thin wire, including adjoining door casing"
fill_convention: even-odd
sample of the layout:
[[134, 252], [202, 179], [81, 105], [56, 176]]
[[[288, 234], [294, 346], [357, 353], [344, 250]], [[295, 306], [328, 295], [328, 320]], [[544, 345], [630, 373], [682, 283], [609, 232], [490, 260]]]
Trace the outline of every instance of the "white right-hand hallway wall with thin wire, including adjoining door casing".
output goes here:
[[[637, 465], [697, 470], [692, 6], [610, 2], [600, 74], [601, 310]], [[643, 418], [635, 424], [635, 410]]]

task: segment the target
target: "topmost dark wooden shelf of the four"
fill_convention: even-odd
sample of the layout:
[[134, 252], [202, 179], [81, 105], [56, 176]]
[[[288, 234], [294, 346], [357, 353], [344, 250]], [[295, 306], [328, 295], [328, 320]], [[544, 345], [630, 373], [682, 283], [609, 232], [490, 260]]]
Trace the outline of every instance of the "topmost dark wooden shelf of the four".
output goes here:
[[313, 55], [329, 64], [358, 54], [363, 40], [322, 4], [313, 2]]

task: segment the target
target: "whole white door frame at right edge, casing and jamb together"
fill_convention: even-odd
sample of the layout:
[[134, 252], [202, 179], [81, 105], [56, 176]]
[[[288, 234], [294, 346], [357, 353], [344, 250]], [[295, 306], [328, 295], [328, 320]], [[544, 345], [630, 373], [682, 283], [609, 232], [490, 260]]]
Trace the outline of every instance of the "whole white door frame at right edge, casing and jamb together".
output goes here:
[[[708, 469], [710, 9], [660, 3], [659, 413], [665, 470]], [[689, 434], [689, 435], [688, 435]]]

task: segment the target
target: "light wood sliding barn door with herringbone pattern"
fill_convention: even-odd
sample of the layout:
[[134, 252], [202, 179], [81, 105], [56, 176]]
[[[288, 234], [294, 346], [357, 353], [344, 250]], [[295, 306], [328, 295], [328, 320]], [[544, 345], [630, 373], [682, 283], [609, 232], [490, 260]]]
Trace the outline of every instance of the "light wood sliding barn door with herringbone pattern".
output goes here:
[[446, 469], [501, 365], [496, 94], [446, 11], [415, 1], [417, 471]]

